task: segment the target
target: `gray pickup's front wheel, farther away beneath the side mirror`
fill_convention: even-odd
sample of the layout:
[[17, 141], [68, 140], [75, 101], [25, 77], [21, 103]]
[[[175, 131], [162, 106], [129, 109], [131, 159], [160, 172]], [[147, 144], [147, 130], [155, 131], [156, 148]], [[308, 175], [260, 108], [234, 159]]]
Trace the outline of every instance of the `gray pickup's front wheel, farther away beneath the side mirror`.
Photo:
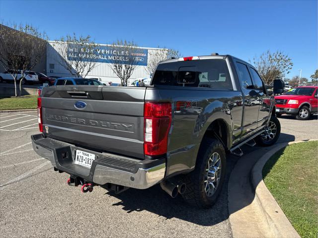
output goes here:
[[259, 146], [271, 146], [275, 144], [280, 135], [280, 122], [275, 117], [270, 118], [268, 127], [265, 128], [265, 132], [256, 136], [255, 142]]

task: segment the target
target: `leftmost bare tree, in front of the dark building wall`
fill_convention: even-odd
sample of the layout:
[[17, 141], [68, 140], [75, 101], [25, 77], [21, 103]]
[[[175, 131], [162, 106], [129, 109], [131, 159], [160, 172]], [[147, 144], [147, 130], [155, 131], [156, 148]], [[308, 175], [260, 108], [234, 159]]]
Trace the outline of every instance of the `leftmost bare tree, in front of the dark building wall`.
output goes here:
[[[31, 70], [43, 58], [47, 35], [31, 25], [0, 24], [0, 62], [5, 70], [10, 70], [14, 79], [15, 96], [16, 82], [19, 80], [21, 96], [22, 83], [26, 70]], [[20, 72], [20, 73], [19, 73]], [[20, 78], [17, 78], [21, 74]]]

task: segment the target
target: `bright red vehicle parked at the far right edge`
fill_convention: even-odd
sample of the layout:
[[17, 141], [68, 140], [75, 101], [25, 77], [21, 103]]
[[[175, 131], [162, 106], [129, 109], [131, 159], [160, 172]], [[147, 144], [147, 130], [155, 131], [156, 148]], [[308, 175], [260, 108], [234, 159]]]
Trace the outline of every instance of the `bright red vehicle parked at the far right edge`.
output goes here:
[[276, 115], [291, 114], [299, 120], [309, 119], [311, 114], [317, 113], [317, 92], [318, 86], [303, 86], [276, 96]]

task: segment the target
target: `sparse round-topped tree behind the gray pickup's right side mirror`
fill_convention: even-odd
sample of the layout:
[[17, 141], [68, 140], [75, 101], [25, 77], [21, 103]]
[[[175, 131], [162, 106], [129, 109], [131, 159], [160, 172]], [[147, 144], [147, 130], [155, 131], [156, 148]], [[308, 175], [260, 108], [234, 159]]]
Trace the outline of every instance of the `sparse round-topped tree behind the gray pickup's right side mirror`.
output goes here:
[[267, 51], [260, 57], [254, 57], [253, 64], [266, 84], [270, 84], [276, 78], [285, 77], [293, 67], [293, 62], [288, 55], [280, 51], [274, 53]]

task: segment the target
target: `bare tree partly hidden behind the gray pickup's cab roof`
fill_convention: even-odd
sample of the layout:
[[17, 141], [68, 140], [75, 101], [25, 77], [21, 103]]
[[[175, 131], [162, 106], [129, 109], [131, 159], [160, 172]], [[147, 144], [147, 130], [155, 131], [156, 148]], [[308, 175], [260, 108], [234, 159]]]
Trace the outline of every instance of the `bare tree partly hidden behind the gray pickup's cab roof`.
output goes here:
[[148, 65], [146, 67], [147, 72], [153, 75], [160, 61], [171, 58], [180, 58], [179, 51], [167, 48], [159, 48], [158, 50], [152, 51], [149, 54]]

